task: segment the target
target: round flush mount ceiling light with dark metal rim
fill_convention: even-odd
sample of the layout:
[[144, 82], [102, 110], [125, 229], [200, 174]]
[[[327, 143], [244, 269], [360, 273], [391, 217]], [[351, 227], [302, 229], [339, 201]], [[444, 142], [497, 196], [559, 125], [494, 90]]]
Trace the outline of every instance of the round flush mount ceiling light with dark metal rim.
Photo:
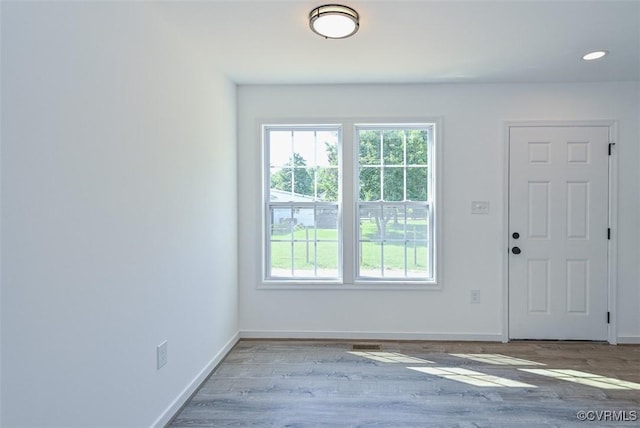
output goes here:
[[344, 39], [358, 31], [360, 15], [347, 6], [325, 4], [309, 13], [309, 26], [325, 39]]

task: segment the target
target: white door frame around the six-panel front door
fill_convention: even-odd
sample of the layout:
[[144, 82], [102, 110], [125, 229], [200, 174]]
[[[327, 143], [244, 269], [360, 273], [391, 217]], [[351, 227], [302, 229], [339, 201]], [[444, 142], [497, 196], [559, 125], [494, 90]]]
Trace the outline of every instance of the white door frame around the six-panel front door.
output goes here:
[[510, 129], [516, 127], [552, 127], [552, 126], [606, 126], [609, 128], [609, 142], [614, 143], [611, 156], [609, 156], [609, 197], [608, 197], [608, 222], [611, 228], [611, 239], [607, 241], [607, 310], [610, 313], [607, 325], [608, 342], [611, 345], [618, 343], [617, 336], [617, 242], [618, 242], [618, 156], [616, 145], [618, 144], [618, 122], [616, 120], [530, 120], [530, 121], [505, 121], [503, 122], [504, 168], [503, 168], [503, 231], [502, 242], [504, 250], [502, 255], [502, 342], [509, 342], [509, 173], [511, 168], [509, 135]]

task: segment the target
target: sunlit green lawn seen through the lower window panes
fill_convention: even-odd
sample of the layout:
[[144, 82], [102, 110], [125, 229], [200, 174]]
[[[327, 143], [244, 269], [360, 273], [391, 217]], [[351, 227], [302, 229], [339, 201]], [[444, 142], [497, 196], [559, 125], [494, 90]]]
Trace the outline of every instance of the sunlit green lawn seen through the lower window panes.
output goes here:
[[[424, 221], [408, 221], [408, 238], [425, 239], [427, 227]], [[375, 222], [363, 220], [361, 223], [362, 237], [375, 240], [378, 230]], [[415, 232], [414, 232], [415, 230]], [[404, 273], [405, 256], [407, 269], [413, 272], [426, 272], [428, 265], [428, 251], [426, 242], [408, 242], [405, 250], [404, 226], [394, 225], [389, 222], [386, 236], [388, 239], [400, 239], [399, 242], [361, 242], [360, 243], [360, 269], [379, 270], [382, 251], [384, 251], [384, 265], [386, 269]], [[308, 240], [307, 243], [307, 233]], [[291, 269], [291, 233], [273, 235], [271, 243], [271, 266], [276, 269]], [[316, 257], [314, 240], [329, 241], [317, 242], [317, 267], [318, 269], [336, 270], [338, 267], [338, 231], [335, 229], [296, 229], [293, 232], [293, 244], [295, 269], [313, 270]], [[406, 254], [405, 254], [406, 253]]]

